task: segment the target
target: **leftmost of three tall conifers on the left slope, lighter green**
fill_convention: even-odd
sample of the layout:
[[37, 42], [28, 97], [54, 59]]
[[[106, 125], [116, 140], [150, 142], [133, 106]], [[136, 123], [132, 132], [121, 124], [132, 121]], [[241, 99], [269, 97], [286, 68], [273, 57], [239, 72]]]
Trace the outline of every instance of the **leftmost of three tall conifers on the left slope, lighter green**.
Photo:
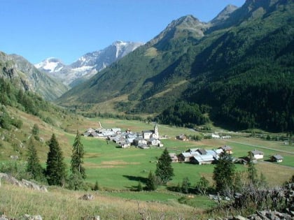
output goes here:
[[32, 138], [29, 139], [27, 150], [27, 172], [31, 174], [33, 179], [37, 181], [43, 181], [43, 168], [39, 162], [36, 147]]

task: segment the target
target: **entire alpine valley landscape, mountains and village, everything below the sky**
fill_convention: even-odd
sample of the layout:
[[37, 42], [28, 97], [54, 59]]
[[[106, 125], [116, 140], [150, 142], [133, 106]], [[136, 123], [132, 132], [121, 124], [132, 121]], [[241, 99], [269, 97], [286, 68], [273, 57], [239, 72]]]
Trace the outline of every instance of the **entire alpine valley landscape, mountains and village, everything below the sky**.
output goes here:
[[293, 219], [293, 132], [293, 0], [70, 65], [0, 52], [0, 219]]

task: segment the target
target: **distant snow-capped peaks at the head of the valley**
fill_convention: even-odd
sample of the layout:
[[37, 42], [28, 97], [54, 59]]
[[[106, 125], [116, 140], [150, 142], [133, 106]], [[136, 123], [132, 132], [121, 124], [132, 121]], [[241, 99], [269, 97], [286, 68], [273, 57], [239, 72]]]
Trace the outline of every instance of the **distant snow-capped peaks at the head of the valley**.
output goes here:
[[66, 66], [56, 58], [48, 58], [36, 68], [62, 80], [64, 85], [73, 87], [91, 78], [98, 71], [132, 52], [143, 43], [116, 41], [104, 50], [89, 52], [80, 57], [73, 64]]

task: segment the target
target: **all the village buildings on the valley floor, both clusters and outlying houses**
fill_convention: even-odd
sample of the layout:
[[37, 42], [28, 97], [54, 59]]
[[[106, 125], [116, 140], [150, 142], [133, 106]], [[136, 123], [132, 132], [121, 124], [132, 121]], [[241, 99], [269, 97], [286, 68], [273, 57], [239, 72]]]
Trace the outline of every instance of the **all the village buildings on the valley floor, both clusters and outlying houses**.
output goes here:
[[[129, 148], [131, 146], [138, 147], [140, 149], [149, 149], [151, 147], [163, 147], [160, 139], [167, 138], [166, 136], [160, 136], [158, 131], [158, 125], [155, 124], [153, 130], [144, 130], [141, 132], [133, 132], [130, 129], [122, 131], [120, 128], [104, 129], [99, 122], [99, 129], [87, 129], [84, 136], [93, 138], [104, 138], [107, 141], [116, 142], [118, 147]], [[223, 138], [219, 135], [214, 135], [213, 138]], [[230, 138], [225, 136], [225, 138]], [[185, 135], [178, 135], [176, 139], [186, 141], [188, 140]], [[217, 149], [200, 149], [192, 148], [187, 149], [180, 154], [169, 153], [172, 162], [174, 163], [193, 163], [198, 165], [217, 163], [221, 153], [233, 154], [232, 147], [224, 145]], [[258, 160], [264, 158], [264, 153], [259, 150], [253, 149], [248, 152], [247, 156], [241, 158], [233, 157], [233, 163], [247, 164], [248, 161], [257, 163]], [[283, 156], [276, 154], [272, 155], [269, 159], [272, 162], [281, 163]]]

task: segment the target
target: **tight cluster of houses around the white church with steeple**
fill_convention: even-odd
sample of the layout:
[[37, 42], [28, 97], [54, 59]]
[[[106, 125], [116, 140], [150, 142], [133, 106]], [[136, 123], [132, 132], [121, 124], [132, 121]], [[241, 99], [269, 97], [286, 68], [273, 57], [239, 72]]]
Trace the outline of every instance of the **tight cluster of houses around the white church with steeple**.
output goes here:
[[162, 142], [160, 141], [157, 124], [155, 124], [153, 130], [141, 131], [139, 133], [134, 133], [130, 131], [130, 129], [127, 129], [127, 131], [121, 131], [119, 128], [104, 129], [101, 127], [99, 129], [87, 129], [83, 135], [112, 140], [122, 148], [131, 146], [139, 147], [141, 149], [148, 149], [153, 146], [163, 147]]

